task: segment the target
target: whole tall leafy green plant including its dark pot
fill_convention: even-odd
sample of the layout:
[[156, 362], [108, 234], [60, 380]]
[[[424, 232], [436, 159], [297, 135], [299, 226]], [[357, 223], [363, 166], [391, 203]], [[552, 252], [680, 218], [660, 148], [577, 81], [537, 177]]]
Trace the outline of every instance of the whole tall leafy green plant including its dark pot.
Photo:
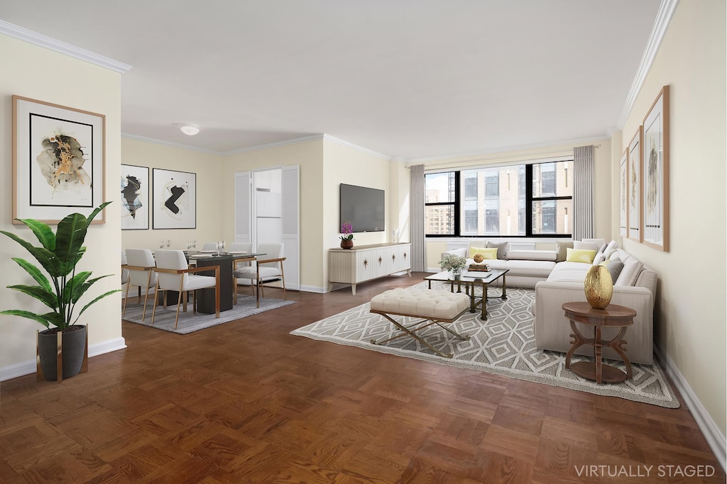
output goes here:
[[0, 231], [1, 234], [7, 235], [7, 237], [25, 247], [50, 276], [49, 279], [41, 271], [41, 268], [23, 258], [12, 258], [35, 279], [38, 285], [15, 284], [7, 287], [36, 298], [44, 305], [47, 305], [51, 311], [47, 313], [33, 313], [22, 309], [0, 311], [0, 314], [33, 319], [33, 321], [38, 321], [47, 328], [41, 331], [38, 337], [41, 369], [46, 380], [57, 380], [57, 333], [63, 333], [62, 376], [63, 378], [70, 378], [81, 371], [81, 364], [83, 364], [86, 350], [86, 326], [76, 325], [76, 321], [92, 304], [114, 292], [120, 291], [120, 289], [117, 289], [105, 292], [105, 294], [84, 305], [81, 311], [75, 312], [76, 303], [79, 302], [81, 296], [85, 294], [89, 287], [99, 279], [111, 276], [111, 274], [107, 274], [89, 279], [91, 276], [90, 271], [76, 273], [76, 264], [86, 252], [83, 243], [88, 226], [109, 203], [111, 202], [101, 204], [88, 218], [81, 213], [72, 213], [66, 216], [62, 221], [58, 222], [55, 234], [46, 223], [33, 218], [16, 219], [25, 223], [33, 231], [41, 244], [39, 246], [31, 244], [11, 232]]

